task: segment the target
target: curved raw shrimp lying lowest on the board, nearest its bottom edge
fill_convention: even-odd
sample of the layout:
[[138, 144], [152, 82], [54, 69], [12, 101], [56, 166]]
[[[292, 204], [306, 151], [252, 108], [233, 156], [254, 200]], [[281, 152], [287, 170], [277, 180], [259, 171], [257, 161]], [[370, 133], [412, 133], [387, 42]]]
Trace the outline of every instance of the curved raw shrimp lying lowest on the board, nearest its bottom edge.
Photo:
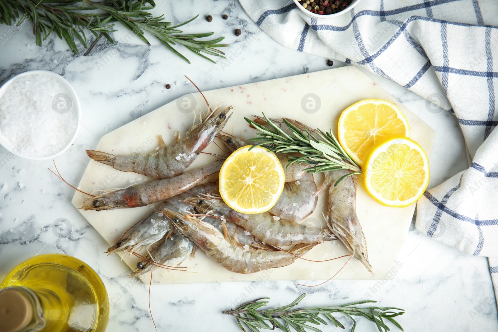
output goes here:
[[171, 211], [164, 213], [173, 220], [178, 231], [195, 242], [209, 258], [236, 273], [253, 273], [289, 265], [316, 245], [297, 245], [289, 252], [241, 247], [209, 223]]

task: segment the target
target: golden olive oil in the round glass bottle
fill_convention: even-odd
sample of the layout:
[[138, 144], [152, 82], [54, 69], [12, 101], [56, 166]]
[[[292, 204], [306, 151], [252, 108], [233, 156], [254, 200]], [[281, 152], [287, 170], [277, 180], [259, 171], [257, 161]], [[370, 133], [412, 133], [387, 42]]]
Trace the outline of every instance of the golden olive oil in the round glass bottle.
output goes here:
[[106, 329], [109, 299], [104, 284], [90, 266], [77, 258], [64, 254], [34, 256], [10, 271], [0, 288], [9, 290], [14, 297], [20, 294], [21, 302], [27, 303], [27, 307], [32, 303], [34, 307], [28, 310], [33, 313], [30, 325], [34, 326], [14, 331], [104, 332]]

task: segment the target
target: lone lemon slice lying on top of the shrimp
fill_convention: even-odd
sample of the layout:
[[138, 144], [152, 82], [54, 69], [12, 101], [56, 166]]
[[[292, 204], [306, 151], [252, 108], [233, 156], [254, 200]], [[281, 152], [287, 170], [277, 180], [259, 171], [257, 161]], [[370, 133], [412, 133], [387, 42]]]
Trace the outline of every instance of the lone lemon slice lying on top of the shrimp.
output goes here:
[[225, 203], [240, 213], [270, 210], [283, 190], [285, 176], [277, 156], [261, 146], [235, 150], [220, 170], [220, 194]]

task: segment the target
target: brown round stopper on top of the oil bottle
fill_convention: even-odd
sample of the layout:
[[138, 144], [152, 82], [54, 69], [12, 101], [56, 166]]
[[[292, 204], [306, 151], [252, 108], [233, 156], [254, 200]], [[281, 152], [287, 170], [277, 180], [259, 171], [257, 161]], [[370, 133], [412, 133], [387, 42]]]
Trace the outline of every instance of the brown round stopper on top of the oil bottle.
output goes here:
[[15, 332], [31, 323], [33, 307], [15, 289], [0, 290], [0, 331]]

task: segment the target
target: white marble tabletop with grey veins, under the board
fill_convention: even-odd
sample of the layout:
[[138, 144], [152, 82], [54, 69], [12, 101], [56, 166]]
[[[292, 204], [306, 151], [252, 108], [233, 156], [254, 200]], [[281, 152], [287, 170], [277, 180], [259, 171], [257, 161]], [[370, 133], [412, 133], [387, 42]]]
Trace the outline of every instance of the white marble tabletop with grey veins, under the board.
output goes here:
[[[187, 19], [187, 11], [201, 17], [186, 31], [215, 31], [231, 44], [230, 61], [214, 65], [185, 51], [189, 65], [152, 41], [138, 38], [129, 44], [99, 43], [89, 56], [75, 56], [51, 38], [34, 45], [30, 23], [0, 46], [0, 84], [14, 74], [43, 69], [61, 74], [76, 89], [82, 105], [82, 125], [74, 145], [55, 162], [69, 183], [78, 183], [88, 163], [84, 150], [94, 148], [109, 130], [152, 111], [177, 97], [194, 92], [183, 75], [203, 90], [296, 75], [330, 68], [326, 60], [288, 50], [274, 42], [249, 19], [234, 0], [157, 1], [157, 12], [174, 22]], [[188, 10], [185, 10], [187, 8]], [[228, 20], [221, 13], [229, 14]], [[1, 25], [0, 35], [9, 27]], [[243, 33], [236, 37], [235, 28]], [[127, 31], [116, 33], [120, 40]], [[250, 40], [249, 35], [255, 34]], [[336, 66], [344, 64], [335, 61]], [[379, 77], [374, 80], [437, 131], [431, 155], [431, 183], [435, 186], [467, 167], [463, 137], [455, 117], [428, 111], [425, 100]], [[171, 84], [170, 90], [165, 84]], [[7, 159], [4, 159], [4, 158]], [[104, 281], [111, 301], [107, 331], [152, 331], [147, 304], [148, 289], [129, 279], [128, 267], [118, 256], [103, 252], [107, 243], [70, 203], [74, 190], [48, 170], [52, 162], [15, 157], [0, 148], [0, 278], [17, 263], [38, 253], [64, 252], [92, 266]], [[53, 167], [52, 167], [53, 168]], [[69, 236], [59, 238], [52, 224], [67, 219]], [[413, 227], [412, 227], [413, 228]], [[235, 320], [222, 310], [263, 296], [275, 305], [308, 293], [303, 305], [344, 304], [366, 296], [380, 306], [404, 308], [399, 322], [405, 331], [497, 331], [494, 302], [484, 304], [493, 287], [484, 257], [471, 257], [411, 229], [399, 256], [400, 268], [385, 283], [330, 281], [321, 287], [302, 288], [297, 282], [215, 283], [154, 285], [150, 297], [158, 331], [238, 331]], [[341, 320], [344, 322], [344, 320]], [[357, 331], [375, 331], [362, 319]], [[324, 331], [333, 331], [332, 327]], [[338, 330], [339, 331], [339, 330]], [[395, 328], [392, 331], [396, 331]]]

